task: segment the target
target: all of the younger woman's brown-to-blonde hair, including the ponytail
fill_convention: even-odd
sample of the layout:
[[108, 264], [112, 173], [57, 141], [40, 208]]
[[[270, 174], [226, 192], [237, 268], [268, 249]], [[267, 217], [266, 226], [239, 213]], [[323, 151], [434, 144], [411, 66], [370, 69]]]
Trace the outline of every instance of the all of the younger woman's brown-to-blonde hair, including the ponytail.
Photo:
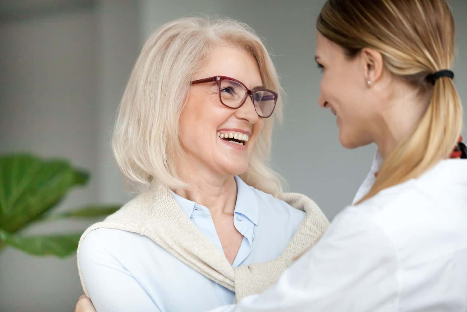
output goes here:
[[386, 70], [420, 93], [432, 94], [422, 119], [386, 157], [361, 201], [418, 177], [449, 157], [462, 129], [459, 94], [451, 78], [439, 78], [434, 85], [427, 79], [453, 64], [454, 19], [446, 0], [328, 0], [317, 28], [339, 44], [348, 58], [364, 47], [378, 50]]

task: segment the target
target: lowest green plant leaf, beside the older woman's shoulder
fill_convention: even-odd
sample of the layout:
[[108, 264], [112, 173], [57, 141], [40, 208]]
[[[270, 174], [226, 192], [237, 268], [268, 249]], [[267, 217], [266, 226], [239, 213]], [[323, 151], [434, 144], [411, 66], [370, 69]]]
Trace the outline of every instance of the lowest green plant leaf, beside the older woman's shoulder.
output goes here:
[[81, 234], [21, 236], [0, 230], [0, 241], [31, 255], [54, 255], [64, 258], [76, 251]]

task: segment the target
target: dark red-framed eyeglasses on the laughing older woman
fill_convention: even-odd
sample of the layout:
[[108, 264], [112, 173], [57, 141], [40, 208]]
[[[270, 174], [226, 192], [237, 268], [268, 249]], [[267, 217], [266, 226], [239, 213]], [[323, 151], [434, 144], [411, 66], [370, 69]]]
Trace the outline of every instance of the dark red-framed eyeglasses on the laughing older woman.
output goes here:
[[192, 85], [204, 84], [206, 82], [217, 82], [217, 93], [222, 104], [229, 108], [240, 108], [247, 97], [251, 98], [258, 116], [268, 118], [274, 112], [277, 102], [277, 93], [263, 88], [250, 90], [241, 81], [226, 77], [213, 76], [209, 78], [191, 81]]

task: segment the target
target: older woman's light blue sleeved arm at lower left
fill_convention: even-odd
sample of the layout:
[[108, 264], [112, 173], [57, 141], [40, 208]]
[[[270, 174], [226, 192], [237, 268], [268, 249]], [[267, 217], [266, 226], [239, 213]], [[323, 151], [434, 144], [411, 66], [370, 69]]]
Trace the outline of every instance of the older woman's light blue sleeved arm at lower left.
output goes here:
[[80, 245], [78, 261], [97, 311], [160, 311], [119, 259], [107, 250], [98, 231], [87, 234]]

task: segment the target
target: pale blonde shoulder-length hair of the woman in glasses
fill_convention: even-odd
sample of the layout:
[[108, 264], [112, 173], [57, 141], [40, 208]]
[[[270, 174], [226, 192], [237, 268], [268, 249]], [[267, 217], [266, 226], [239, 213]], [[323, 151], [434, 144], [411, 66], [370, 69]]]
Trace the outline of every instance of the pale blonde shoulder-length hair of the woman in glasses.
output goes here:
[[280, 177], [269, 168], [273, 125], [275, 119], [282, 120], [283, 105], [282, 89], [268, 50], [248, 25], [205, 17], [182, 18], [162, 25], [144, 44], [131, 72], [113, 129], [112, 150], [127, 182], [138, 191], [153, 181], [170, 188], [188, 187], [177, 171], [177, 162], [183, 161], [178, 120], [192, 78], [218, 46], [250, 53], [258, 63], [265, 88], [280, 94], [274, 117], [264, 120], [248, 170], [240, 177], [274, 196], [282, 192]]

